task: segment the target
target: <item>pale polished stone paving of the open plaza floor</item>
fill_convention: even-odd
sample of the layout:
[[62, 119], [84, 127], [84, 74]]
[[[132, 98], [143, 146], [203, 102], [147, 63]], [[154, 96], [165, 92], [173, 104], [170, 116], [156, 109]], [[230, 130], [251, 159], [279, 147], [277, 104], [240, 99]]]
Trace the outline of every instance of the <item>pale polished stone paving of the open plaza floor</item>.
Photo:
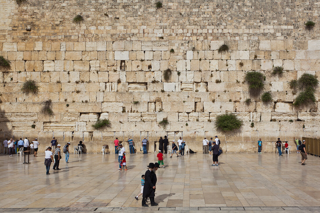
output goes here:
[[[174, 154], [175, 155], [175, 154]], [[320, 158], [297, 153], [227, 153], [219, 166], [209, 154], [164, 154], [156, 171], [157, 207], [141, 207], [141, 175], [156, 153], [127, 154], [118, 170], [115, 154], [62, 155], [60, 171], [45, 174], [44, 154], [30, 164], [0, 155], [0, 211], [76, 212], [320, 212]], [[150, 203], [148, 203], [150, 204]]]

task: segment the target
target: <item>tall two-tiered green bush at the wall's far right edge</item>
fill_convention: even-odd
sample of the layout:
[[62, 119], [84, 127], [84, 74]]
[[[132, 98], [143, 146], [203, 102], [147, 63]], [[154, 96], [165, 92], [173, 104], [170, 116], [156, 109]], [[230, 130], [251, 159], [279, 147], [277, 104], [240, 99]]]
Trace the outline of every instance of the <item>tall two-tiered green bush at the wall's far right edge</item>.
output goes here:
[[301, 92], [293, 102], [294, 106], [306, 106], [314, 103], [316, 97], [314, 95], [316, 88], [318, 87], [319, 80], [316, 75], [303, 74], [297, 81], [297, 85]]

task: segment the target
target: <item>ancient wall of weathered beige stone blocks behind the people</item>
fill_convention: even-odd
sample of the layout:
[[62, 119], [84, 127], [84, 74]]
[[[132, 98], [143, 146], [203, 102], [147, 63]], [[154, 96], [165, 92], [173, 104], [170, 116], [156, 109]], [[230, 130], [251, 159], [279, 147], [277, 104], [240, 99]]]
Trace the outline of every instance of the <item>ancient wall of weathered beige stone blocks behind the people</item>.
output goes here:
[[[320, 79], [316, 1], [174, 0], [160, 9], [155, 3], [61, 0], [18, 7], [2, 0], [0, 55], [11, 69], [0, 75], [0, 139], [41, 143], [55, 136], [99, 152], [104, 144], [112, 148], [115, 137], [148, 137], [154, 151], [154, 141], [168, 135], [201, 151], [204, 137], [218, 135], [224, 151], [254, 152], [258, 138], [272, 151], [278, 137], [292, 146], [294, 136], [319, 137], [320, 105], [293, 106], [298, 93], [289, 86], [304, 73]], [[76, 14], [82, 23], [72, 23]], [[308, 20], [314, 29], [305, 29]], [[222, 44], [229, 50], [219, 52]], [[271, 74], [276, 66], [283, 75]], [[244, 75], [252, 70], [266, 76], [272, 102], [250, 97]], [[37, 95], [21, 92], [27, 80], [37, 82]], [[320, 93], [315, 96], [318, 101]], [[52, 117], [40, 113], [49, 99]], [[226, 112], [244, 121], [240, 132], [216, 131], [216, 116]], [[94, 130], [99, 118], [112, 127]], [[164, 118], [166, 129], [159, 126]]]

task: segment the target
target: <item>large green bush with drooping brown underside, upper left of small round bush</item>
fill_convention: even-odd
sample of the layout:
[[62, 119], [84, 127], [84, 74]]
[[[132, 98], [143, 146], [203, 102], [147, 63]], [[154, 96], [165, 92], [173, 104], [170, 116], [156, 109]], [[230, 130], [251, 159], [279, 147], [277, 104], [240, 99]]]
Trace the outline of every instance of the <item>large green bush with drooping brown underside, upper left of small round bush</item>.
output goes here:
[[259, 72], [247, 72], [244, 80], [249, 84], [249, 93], [253, 97], [260, 95], [264, 89], [264, 78], [265, 76]]

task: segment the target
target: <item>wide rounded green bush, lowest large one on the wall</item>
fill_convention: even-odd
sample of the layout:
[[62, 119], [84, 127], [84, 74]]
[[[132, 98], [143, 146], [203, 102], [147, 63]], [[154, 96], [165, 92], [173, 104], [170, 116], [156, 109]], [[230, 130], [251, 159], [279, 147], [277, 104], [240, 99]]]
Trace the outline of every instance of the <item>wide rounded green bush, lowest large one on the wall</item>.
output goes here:
[[243, 122], [235, 114], [222, 114], [218, 115], [215, 126], [219, 131], [235, 131], [239, 130]]

